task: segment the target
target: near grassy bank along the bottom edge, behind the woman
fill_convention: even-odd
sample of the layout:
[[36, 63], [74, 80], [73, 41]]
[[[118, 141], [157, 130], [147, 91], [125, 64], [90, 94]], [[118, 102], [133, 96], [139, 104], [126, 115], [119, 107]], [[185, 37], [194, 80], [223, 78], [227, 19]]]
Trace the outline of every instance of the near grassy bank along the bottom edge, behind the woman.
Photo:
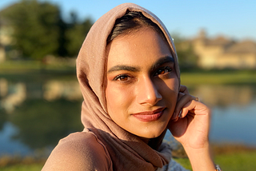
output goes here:
[[[225, 171], [254, 171], [256, 168], [256, 148], [245, 145], [212, 145], [214, 162]], [[181, 155], [179, 155], [181, 156]], [[184, 168], [192, 170], [187, 157], [174, 155], [174, 160]], [[0, 157], [2, 171], [38, 171], [42, 169], [46, 159], [31, 157]]]

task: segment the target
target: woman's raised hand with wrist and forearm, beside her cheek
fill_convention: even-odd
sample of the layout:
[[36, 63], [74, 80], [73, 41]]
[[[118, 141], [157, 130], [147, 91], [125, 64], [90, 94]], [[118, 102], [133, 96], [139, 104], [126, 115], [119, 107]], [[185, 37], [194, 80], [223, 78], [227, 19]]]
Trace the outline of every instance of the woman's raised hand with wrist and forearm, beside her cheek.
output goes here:
[[210, 109], [191, 96], [184, 85], [181, 85], [176, 108], [167, 128], [183, 145], [193, 170], [214, 170], [208, 138]]

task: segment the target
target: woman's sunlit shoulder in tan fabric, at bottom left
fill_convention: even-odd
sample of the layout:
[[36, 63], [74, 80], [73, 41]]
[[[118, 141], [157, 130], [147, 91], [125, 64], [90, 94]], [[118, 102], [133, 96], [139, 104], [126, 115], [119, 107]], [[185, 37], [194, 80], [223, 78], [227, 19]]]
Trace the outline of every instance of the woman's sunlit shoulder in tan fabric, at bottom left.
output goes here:
[[94, 133], [71, 133], [59, 141], [42, 170], [110, 170], [112, 162]]

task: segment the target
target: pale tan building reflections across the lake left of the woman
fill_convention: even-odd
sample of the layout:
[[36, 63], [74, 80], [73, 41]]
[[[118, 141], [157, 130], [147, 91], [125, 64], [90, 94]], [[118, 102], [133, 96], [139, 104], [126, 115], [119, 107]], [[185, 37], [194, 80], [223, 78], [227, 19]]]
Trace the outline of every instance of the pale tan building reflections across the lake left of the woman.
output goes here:
[[7, 82], [0, 78], [0, 109], [13, 113], [15, 107], [21, 105], [26, 99], [57, 99], [70, 101], [82, 99], [78, 82], [50, 80], [39, 82]]

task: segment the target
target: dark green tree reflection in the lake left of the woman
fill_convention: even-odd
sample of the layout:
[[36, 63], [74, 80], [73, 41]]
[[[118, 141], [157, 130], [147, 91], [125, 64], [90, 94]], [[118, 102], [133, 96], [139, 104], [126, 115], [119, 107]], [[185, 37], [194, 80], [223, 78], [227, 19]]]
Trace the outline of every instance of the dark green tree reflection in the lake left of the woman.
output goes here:
[[81, 101], [24, 101], [10, 117], [18, 128], [12, 138], [31, 149], [54, 146], [60, 138], [82, 130], [80, 108]]

